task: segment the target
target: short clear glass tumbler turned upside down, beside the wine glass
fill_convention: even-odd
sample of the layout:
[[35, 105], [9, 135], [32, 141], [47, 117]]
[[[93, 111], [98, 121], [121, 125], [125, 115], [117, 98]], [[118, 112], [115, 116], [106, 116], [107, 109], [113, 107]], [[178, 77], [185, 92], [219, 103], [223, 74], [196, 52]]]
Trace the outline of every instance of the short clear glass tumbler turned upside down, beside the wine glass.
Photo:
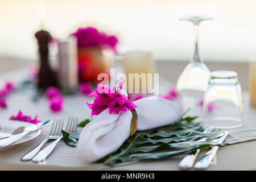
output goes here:
[[242, 91], [233, 71], [210, 73], [204, 94], [203, 122], [205, 126], [229, 129], [242, 126]]

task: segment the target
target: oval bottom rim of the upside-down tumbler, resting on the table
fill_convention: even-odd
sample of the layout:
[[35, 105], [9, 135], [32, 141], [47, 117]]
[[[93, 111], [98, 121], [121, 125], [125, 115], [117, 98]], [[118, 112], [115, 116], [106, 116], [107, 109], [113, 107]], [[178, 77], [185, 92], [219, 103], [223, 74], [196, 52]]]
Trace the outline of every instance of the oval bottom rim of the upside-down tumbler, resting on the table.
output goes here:
[[242, 119], [235, 117], [214, 117], [204, 119], [203, 126], [213, 127], [218, 129], [234, 129], [242, 126]]

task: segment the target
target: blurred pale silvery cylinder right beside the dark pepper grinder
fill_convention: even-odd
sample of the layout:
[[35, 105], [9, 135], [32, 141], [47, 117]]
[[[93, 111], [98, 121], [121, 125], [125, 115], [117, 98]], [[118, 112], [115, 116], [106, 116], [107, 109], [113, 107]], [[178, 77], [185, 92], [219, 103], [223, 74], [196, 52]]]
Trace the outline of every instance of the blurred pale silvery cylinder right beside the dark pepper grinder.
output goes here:
[[62, 89], [78, 86], [77, 39], [69, 36], [59, 40], [59, 83]]

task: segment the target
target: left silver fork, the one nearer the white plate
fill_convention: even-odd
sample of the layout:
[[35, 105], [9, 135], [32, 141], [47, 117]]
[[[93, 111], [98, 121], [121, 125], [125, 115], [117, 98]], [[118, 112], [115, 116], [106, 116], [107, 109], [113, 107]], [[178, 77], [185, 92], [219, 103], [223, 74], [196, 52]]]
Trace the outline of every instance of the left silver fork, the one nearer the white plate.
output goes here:
[[27, 152], [27, 154], [23, 155], [21, 160], [22, 161], [29, 161], [36, 154], [38, 154], [39, 150], [44, 146], [46, 142], [49, 140], [56, 140], [57, 138], [60, 137], [61, 129], [63, 128], [63, 120], [61, 119], [55, 119], [55, 121], [52, 124], [51, 131], [49, 132], [49, 135], [46, 137], [46, 139], [43, 140], [38, 146]]

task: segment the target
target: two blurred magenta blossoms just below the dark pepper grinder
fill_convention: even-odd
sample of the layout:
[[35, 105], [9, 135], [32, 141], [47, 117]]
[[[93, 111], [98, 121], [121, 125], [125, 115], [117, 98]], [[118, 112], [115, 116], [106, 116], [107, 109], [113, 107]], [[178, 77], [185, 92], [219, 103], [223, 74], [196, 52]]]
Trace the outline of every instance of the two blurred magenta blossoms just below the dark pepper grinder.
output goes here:
[[56, 113], [63, 109], [64, 98], [58, 88], [54, 86], [49, 87], [45, 92], [45, 96], [49, 100], [51, 111]]

